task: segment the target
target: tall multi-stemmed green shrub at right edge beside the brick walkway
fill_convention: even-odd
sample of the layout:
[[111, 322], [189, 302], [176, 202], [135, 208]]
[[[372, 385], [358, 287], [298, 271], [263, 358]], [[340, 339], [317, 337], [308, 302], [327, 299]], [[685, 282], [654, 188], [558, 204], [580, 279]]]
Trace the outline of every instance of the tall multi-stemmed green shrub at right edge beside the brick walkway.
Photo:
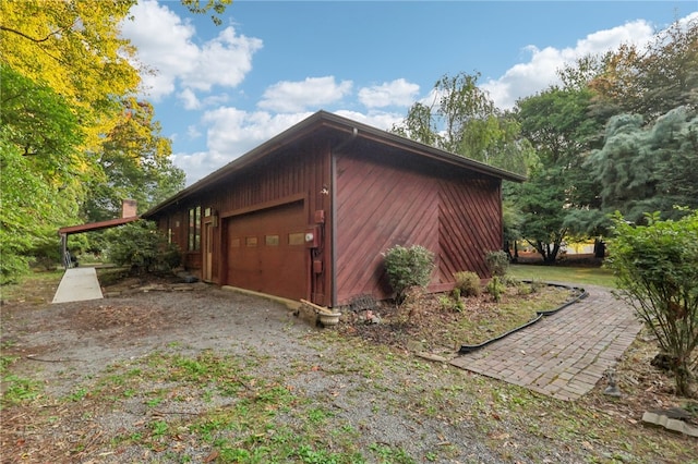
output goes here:
[[698, 366], [698, 211], [679, 220], [646, 215], [647, 225], [613, 218], [606, 266], [619, 295], [652, 330], [672, 359], [676, 393], [689, 395]]

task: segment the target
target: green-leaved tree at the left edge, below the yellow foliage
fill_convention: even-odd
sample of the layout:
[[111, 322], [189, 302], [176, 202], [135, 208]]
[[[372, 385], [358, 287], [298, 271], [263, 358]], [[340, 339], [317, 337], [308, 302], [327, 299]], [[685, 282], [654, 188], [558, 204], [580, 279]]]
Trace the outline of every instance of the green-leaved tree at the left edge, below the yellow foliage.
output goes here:
[[[0, 65], [0, 282], [16, 279], [76, 217], [86, 172], [64, 98]], [[48, 247], [50, 249], [50, 246]]]

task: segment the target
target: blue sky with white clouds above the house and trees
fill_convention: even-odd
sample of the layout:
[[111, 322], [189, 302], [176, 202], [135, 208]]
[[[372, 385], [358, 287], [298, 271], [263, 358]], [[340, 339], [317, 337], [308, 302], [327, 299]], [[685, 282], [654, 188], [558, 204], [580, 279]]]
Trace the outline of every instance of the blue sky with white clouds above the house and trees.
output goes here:
[[389, 129], [444, 74], [479, 72], [510, 108], [565, 62], [645, 44], [698, 2], [236, 0], [220, 26], [174, 0], [131, 13], [144, 98], [191, 184], [321, 109]]

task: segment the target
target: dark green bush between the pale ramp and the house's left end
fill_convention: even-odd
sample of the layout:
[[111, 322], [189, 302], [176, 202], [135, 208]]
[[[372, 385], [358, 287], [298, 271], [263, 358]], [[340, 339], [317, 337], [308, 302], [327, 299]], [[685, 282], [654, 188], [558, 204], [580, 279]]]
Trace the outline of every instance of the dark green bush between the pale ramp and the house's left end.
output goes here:
[[136, 273], [167, 271], [180, 264], [180, 252], [157, 229], [155, 222], [140, 220], [108, 234], [107, 254], [119, 266]]

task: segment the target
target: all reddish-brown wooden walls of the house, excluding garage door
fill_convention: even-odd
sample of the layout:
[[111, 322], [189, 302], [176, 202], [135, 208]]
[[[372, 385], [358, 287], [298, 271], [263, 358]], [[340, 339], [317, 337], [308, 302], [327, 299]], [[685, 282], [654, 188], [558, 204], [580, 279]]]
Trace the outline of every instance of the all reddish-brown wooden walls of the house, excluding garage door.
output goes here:
[[[190, 271], [210, 272], [208, 280], [222, 285], [229, 283], [228, 273], [238, 272], [227, 262], [234, 237], [226, 231], [240, 223], [236, 218], [302, 202], [311, 225], [316, 211], [323, 211], [321, 243], [308, 251], [303, 278], [305, 298], [325, 306], [362, 294], [389, 297], [382, 253], [396, 244], [419, 244], [435, 253], [432, 291], [453, 288], [457, 271], [489, 277], [484, 254], [502, 246], [501, 180], [411, 148], [317, 130], [296, 142], [286, 139], [281, 148], [227, 175], [224, 168], [218, 180], [212, 176], [151, 219], [171, 231]], [[202, 210], [202, 240], [210, 237], [210, 268], [204, 243], [201, 251], [186, 252], [193, 207]]]

